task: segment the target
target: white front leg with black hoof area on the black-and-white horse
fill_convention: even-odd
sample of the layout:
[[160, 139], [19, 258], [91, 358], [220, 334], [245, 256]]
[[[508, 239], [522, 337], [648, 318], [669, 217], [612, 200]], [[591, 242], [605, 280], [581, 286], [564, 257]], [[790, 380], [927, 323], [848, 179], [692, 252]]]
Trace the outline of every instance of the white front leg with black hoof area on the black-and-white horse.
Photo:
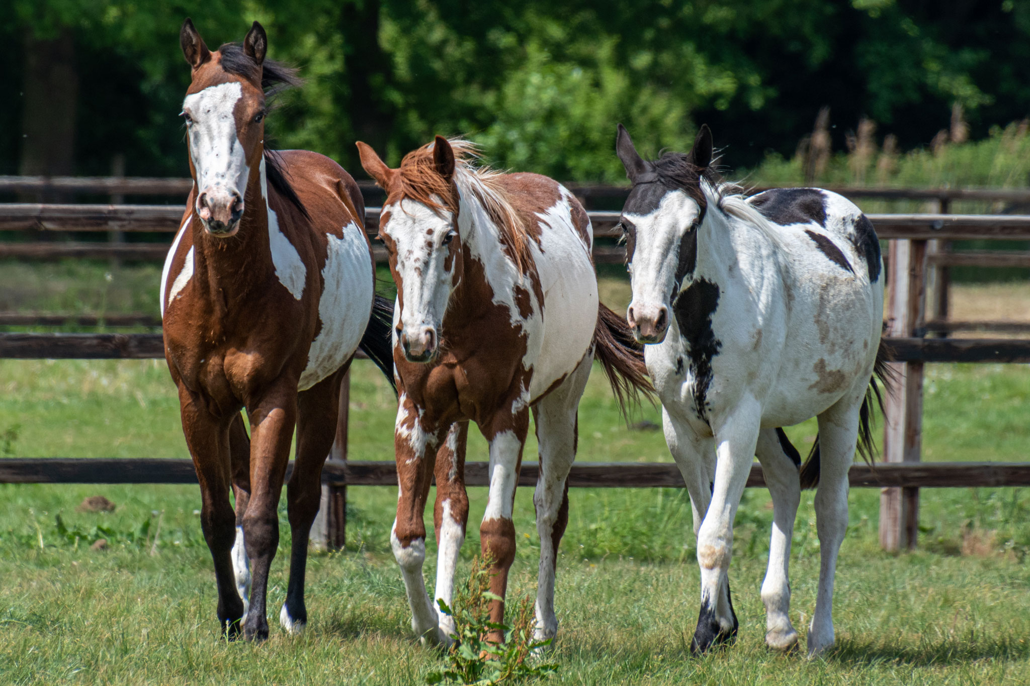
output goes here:
[[697, 563], [701, 573], [701, 609], [690, 643], [691, 652], [736, 636], [736, 615], [729, 599], [729, 561], [733, 554], [733, 517], [751, 473], [761, 407], [742, 402], [715, 431], [716, 468], [712, 501], [697, 532]]

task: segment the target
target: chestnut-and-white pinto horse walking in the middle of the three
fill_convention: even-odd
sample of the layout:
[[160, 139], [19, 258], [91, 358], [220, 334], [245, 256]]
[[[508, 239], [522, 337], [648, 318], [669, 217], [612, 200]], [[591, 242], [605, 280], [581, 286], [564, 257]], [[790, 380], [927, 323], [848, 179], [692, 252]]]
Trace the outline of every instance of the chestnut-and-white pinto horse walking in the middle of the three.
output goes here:
[[[379, 238], [398, 287], [393, 363], [401, 398], [394, 433], [400, 495], [390, 542], [412, 627], [428, 642], [447, 643], [454, 630], [425, 591], [422, 515], [435, 474], [435, 598], [449, 604], [469, 514], [464, 472], [470, 420], [489, 442], [480, 535], [492, 559], [490, 590], [504, 599], [531, 410], [540, 442], [536, 635], [549, 639], [557, 630], [554, 574], [569, 517], [565, 477], [591, 361], [596, 356], [602, 362], [620, 404], [627, 394], [651, 388], [625, 321], [598, 302], [590, 220], [547, 177], [476, 167], [475, 149], [466, 141], [438, 136], [397, 170], [368, 145], [357, 147], [362, 166], [387, 192]], [[503, 617], [504, 601], [493, 601], [490, 620]]]

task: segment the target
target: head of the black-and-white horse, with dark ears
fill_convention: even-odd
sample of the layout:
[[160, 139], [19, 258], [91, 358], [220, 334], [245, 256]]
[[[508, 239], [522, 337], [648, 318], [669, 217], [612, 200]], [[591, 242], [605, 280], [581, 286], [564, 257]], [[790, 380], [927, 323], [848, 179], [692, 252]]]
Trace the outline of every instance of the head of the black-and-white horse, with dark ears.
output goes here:
[[710, 174], [712, 132], [701, 125], [687, 154], [666, 153], [647, 161], [620, 123], [615, 150], [633, 184], [619, 222], [632, 284], [626, 320], [637, 340], [658, 344], [665, 338], [683, 280], [694, 270], [696, 231], [707, 207], [700, 184]]

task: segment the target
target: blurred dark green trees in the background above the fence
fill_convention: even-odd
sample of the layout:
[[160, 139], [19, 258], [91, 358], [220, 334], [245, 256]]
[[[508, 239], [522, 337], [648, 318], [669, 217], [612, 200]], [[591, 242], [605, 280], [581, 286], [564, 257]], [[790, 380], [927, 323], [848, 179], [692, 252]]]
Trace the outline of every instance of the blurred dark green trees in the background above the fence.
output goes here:
[[[440, 133], [481, 142], [501, 167], [621, 182], [621, 121], [652, 155], [708, 122], [724, 164], [756, 182], [1027, 183], [1027, 2], [242, 4], [0, 4], [0, 173], [105, 175], [123, 155], [129, 175], [184, 175], [190, 15], [212, 48], [261, 21], [271, 57], [307, 78], [270, 119], [273, 144], [355, 176], [355, 140], [397, 164]], [[975, 146], [990, 155], [961, 152]]]

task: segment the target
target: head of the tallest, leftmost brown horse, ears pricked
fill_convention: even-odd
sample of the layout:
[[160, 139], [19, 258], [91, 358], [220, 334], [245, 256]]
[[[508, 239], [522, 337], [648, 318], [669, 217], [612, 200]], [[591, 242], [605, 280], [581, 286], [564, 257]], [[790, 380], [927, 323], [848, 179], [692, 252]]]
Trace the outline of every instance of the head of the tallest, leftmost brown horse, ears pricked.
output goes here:
[[209, 234], [227, 238], [239, 229], [250, 170], [261, 164], [265, 149], [262, 81], [268, 38], [254, 22], [242, 47], [227, 43], [212, 52], [186, 20], [179, 42], [193, 68], [182, 118], [198, 190], [196, 211]]

